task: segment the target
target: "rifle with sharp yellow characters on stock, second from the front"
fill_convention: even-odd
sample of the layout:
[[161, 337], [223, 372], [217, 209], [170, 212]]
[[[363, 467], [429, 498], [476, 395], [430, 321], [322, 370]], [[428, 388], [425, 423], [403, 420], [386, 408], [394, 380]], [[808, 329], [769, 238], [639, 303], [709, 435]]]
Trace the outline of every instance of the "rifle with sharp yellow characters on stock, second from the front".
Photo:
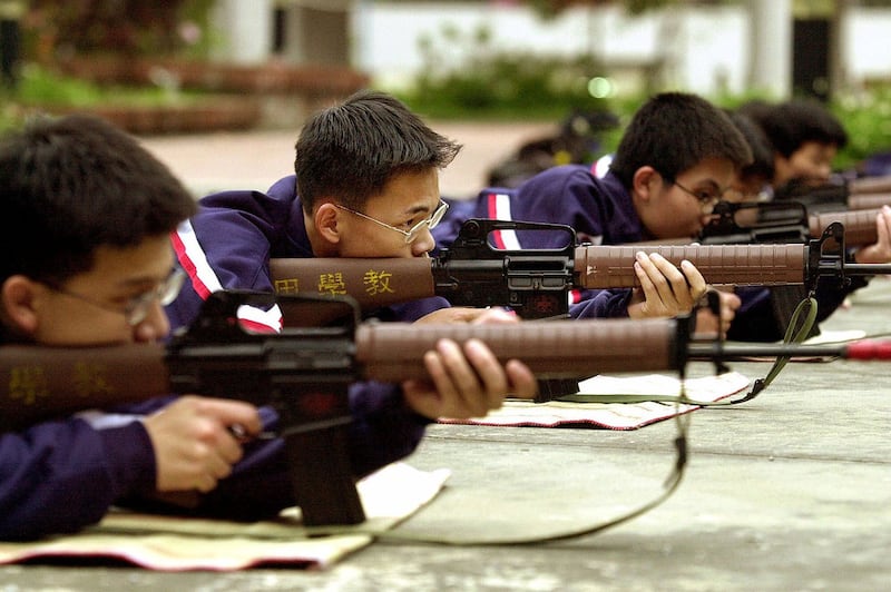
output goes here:
[[[556, 249], [498, 249], [495, 230], [558, 231], [569, 236]], [[874, 224], [873, 224], [874, 230]], [[636, 251], [658, 253], [679, 265], [692, 262], [712, 284], [845, 285], [851, 276], [887, 274], [891, 266], [849, 264], [845, 228], [831, 224], [807, 244], [575, 246], [569, 226], [470, 219], [449, 249], [430, 258], [273, 258], [270, 272], [280, 294], [349, 295], [365, 310], [430, 296], [454, 306], [507, 306], [523, 318], [566, 315], [572, 289], [629, 288]]]

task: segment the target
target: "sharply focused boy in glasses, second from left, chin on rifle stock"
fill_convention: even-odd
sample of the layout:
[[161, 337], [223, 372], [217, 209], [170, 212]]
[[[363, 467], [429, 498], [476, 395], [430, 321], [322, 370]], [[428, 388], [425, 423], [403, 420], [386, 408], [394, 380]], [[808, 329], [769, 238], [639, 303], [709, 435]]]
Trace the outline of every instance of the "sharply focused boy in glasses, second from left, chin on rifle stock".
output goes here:
[[[189, 280], [167, 310], [187, 325], [219, 287], [272, 292], [274, 257], [425, 257], [446, 214], [439, 170], [460, 145], [431, 130], [395, 98], [361, 91], [316, 114], [296, 142], [294, 169], [267, 193], [225, 191], [174, 235]], [[278, 330], [277, 307], [243, 313]], [[385, 320], [503, 322], [501, 310], [450, 308], [440, 297], [385, 307]]]

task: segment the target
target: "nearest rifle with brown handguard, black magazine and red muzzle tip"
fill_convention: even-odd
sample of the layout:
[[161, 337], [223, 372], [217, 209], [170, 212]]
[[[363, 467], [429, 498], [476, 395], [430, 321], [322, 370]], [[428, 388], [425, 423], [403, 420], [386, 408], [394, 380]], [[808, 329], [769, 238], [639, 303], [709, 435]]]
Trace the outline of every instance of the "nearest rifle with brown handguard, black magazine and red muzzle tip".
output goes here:
[[822, 346], [695, 343], [695, 316], [510, 325], [360, 324], [355, 304], [341, 299], [327, 303], [345, 307], [341, 319], [321, 327], [290, 324], [280, 334], [256, 334], [237, 322], [242, 305], [277, 303], [284, 314], [300, 315], [301, 307], [323, 302], [218, 292], [207, 299], [196, 323], [166, 346], [0, 347], [4, 385], [0, 427], [19, 430], [79, 410], [110, 407], [168, 392], [271, 405], [281, 417], [304, 523], [355, 524], [364, 520], [364, 511], [345, 445], [350, 422], [346, 386], [358, 379], [424, 379], [423, 353], [444, 337], [459, 343], [482, 339], [502, 364], [520, 358], [546, 378], [665, 369], [678, 371], [683, 377], [689, 361], [712, 361], [723, 369], [723, 361], [741, 356], [891, 359], [891, 342]]

